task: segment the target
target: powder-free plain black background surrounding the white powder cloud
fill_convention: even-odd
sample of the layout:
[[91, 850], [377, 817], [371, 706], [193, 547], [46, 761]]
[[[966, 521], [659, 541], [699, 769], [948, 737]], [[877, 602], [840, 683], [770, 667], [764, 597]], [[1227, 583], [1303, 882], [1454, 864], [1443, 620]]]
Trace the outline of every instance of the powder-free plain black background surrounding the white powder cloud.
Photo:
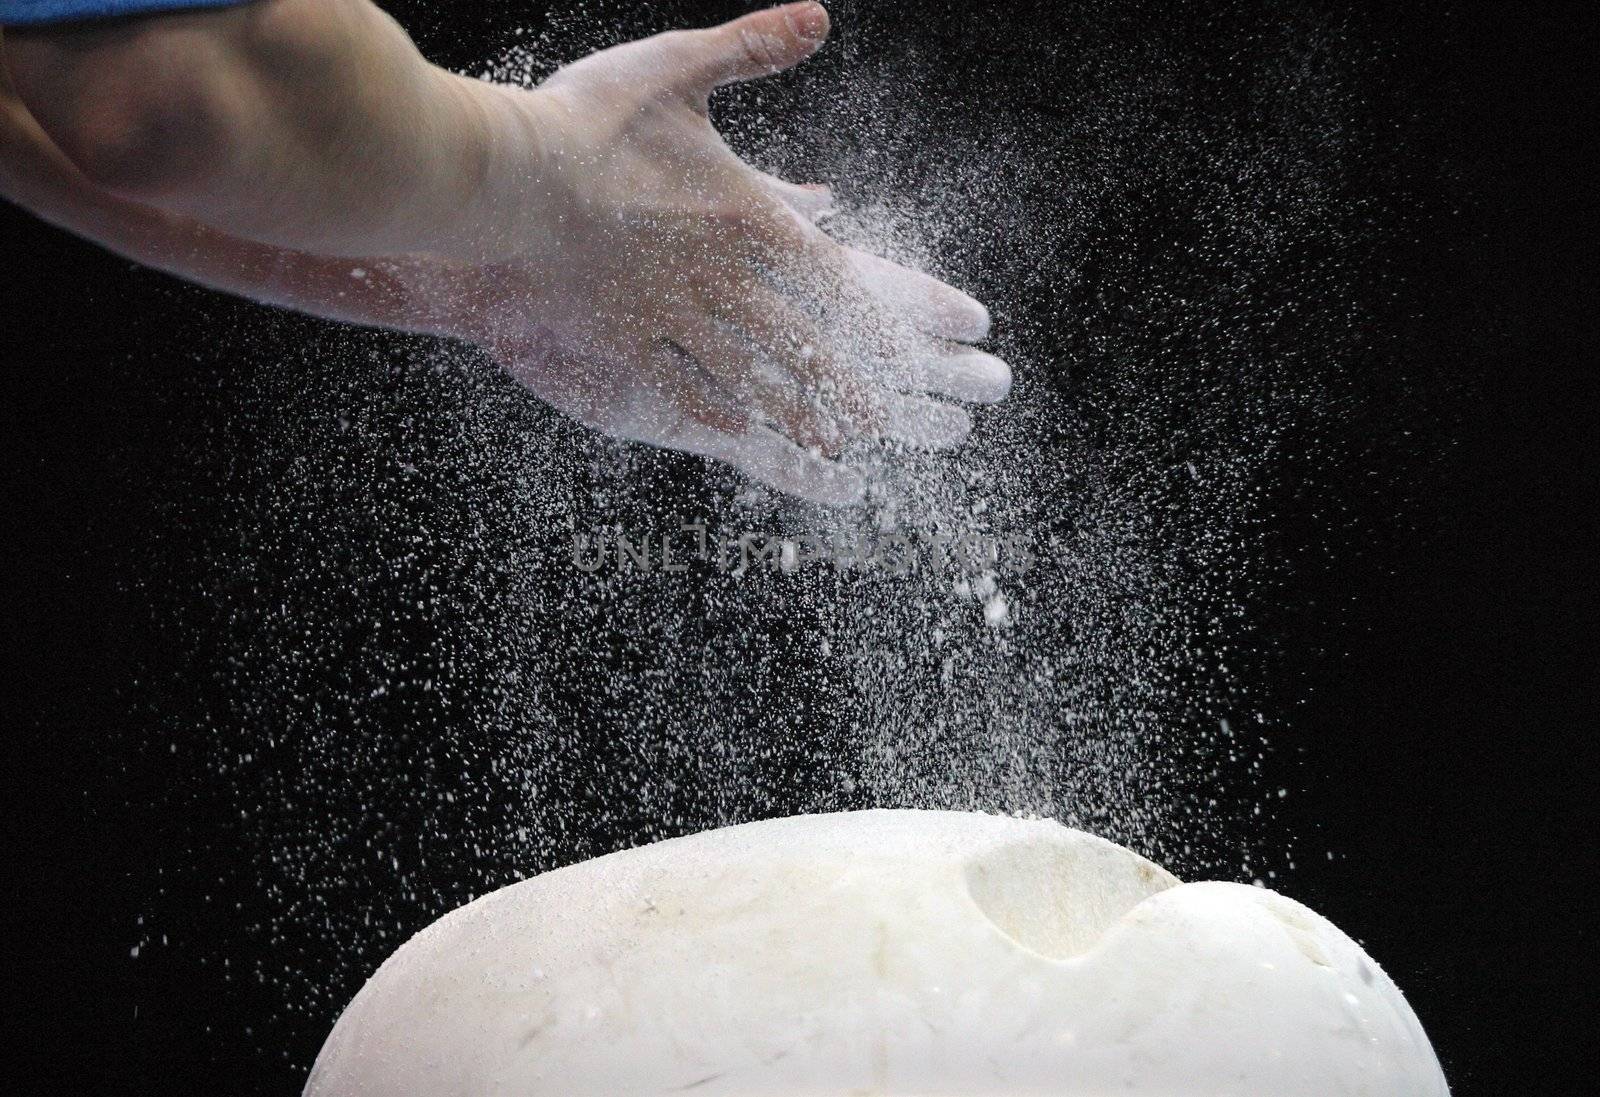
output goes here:
[[[389, 6], [430, 56], [454, 64], [539, 18], [538, 5]], [[1152, 34], [1226, 34], [1226, 19], [1202, 5], [1136, 6]], [[1270, 21], [1309, 6], [1318, 5], [1205, 10]], [[1299, 744], [1272, 763], [1301, 795], [1270, 825], [1342, 851], [1304, 859], [1283, 889], [1362, 939], [1395, 975], [1456, 1092], [1558, 1092], [1587, 1068], [1594, 1006], [1587, 824], [1600, 493], [1590, 454], [1594, 245], [1582, 221], [1597, 150], [1581, 86], [1594, 21], [1576, 5], [1389, 6], [1318, 8], [1349, 8], [1360, 34], [1384, 46], [1374, 80], [1414, 106], [1395, 139], [1413, 166], [1440, 165], [1438, 208], [1459, 209], [1427, 221], [1394, 259], [1406, 288], [1390, 317], [1403, 317], [1413, 376], [1453, 379], [1429, 424], [1451, 445], [1429, 465], [1414, 521], [1392, 523], [1390, 499], [1352, 496], [1357, 512], [1373, 510], [1358, 525], [1379, 531], [1362, 566], [1307, 569], [1259, 624], [1280, 652], [1272, 688], [1296, 713]], [[736, 11], [653, 6], [632, 29]], [[902, 18], [920, 43], [992, 51], [1000, 64], [989, 77], [1014, 54], [1018, 80], [1037, 80], [1038, 45], [1070, 40], [1082, 14], [1045, 3], [874, 11]], [[957, 93], [962, 70], [950, 62]], [[1048, 83], [1027, 93], [1051, 94]], [[171, 622], [224, 632], [173, 604], [181, 593], [144, 582], [157, 564], [184, 568], [152, 561], [152, 544], [202, 555], [229, 520], [219, 507], [208, 513], [202, 493], [181, 536], [154, 536], [168, 520], [152, 499], [171, 496], [157, 483], [176, 467], [173, 448], [216, 414], [197, 377], [227, 377], [250, 355], [330, 336], [286, 321], [248, 352], [226, 334], [213, 342], [203, 333], [243, 331], [253, 309], [136, 270], [11, 208], [0, 209], [0, 438], [11, 486], [0, 780], [6, 905], [19, 923], [5, 939], [6, 967], [21, 975], [6, 1043], [21, 1052], [21, 1089], [296, 1092], [296, 1070], [331, 1014], [272, 1020], [270, 993], [216, 964], [130, 958], [136, 913], [152, 873], [170, 865], [173, 835], [226, 820], [203, 790], [176, 830], [130, 811], [171, 798], [155, 787], [158, 760], [128, 744], [149, 742], [163, 704], [186, 704], [160, 680], [162, 668], [173, 673], [160, 652]], [[1003, 286], [989, 288], [990, 299], [997, 293]], [[250, 445], [248, 424], [232, 429]], [[211, 472], [226, 483], [224, 470]], [[1302, 502], [1294, 493], [1282, 501], [1277, 536], [1290, 545], [1317, 536]], [[250, 611], [248, 592], [226, 598]], [[174, 884], [181, 896], [205, 892], [195, 883], [205, 867], [192, 876]], [[248, 921], [250, 904], [248, 894], [211, 902], [190, 932], [230, 940], [229, 919]]]

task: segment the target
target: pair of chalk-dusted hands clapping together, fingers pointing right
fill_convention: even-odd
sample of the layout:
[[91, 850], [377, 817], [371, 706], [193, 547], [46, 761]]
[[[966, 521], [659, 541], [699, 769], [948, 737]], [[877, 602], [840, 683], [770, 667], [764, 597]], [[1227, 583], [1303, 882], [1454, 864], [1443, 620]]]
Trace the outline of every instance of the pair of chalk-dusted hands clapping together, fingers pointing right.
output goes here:
[[717, 86], [826, 34], [800, 3], [490, 88], [526, 157], [490, 179], [502, 243], [472, 264], [467, 334], [590, 427], [850, 504], [862, 478], [832, 461], [850, 441], [957, 445], [966, 413], [923, 393], [995, 401], [1010, 371], [965, 345], [981, 304], [832, 241], [826, 190], [755, 171], [707, 120]]

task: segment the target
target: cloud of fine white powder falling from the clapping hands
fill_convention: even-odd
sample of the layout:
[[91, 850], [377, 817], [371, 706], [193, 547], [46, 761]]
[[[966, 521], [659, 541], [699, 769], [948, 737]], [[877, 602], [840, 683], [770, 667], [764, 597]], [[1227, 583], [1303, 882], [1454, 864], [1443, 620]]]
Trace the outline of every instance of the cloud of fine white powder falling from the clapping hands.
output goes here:
[[[1242, 24], [1218, 61], [1128, 5], [1070, 56], [1022, 51], [1056, 82], [1030, 104], [954, 96], [843, 16], [835, 54], [718, 122], [835, 184], [837, 238], [987, 301], [1018, 377], [960, 451], [850, 454], [867, 507], [594, 437], [466, 349], [251, 313], [174, 481], [195, 558], [157, 569], [203, 595], [170, 632], [208, 684], [154, 710], [173, 798], [206, 804], [174, 841], [234, 851], [203, 891], [251, 927], [230, 971], [280, 1028], [323, 1031], [477, 894], [747, 819], [982, 809], [1181, 873], [1293, 857], [1242, 825], [1283, 795], [1245, 670], [1285, 568], [1269, 509], [1349, 461], [1373, 398], [1363, 278], [1398, 229], [1352, 182], [1378, 155], [1365, 43], [1302, 14]], [[579, 22], [488, 75], [531, 83], [616, 35]], [[1218, 66], [1238, 104], [1197, 93]], [[632, 563], [594, 566], [621, 541]], [[746, 564], [744, 542], [787, 547]], [[197, 924], [198, 889], [152, 899], [144, 956]]]

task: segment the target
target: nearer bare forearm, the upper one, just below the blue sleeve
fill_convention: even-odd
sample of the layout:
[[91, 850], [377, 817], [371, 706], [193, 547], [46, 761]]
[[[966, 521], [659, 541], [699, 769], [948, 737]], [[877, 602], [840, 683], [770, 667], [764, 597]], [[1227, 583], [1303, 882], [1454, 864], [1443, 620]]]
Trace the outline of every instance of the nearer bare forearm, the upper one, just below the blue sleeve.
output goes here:
[[494, 162], [523, 155], [506, 99], [368, 0], [13, 30], [6, 59], [93, 182], [285, 248], [475, 257], [498, 233]]

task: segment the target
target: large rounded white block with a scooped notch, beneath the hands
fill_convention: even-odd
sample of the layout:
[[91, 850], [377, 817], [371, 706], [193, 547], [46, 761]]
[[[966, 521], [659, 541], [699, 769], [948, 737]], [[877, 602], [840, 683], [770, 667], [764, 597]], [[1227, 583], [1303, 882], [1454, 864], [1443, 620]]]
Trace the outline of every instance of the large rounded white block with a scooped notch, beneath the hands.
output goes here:
[[506, 888], [360, 991], [307, 1097], [1434, 1097], [1333, 924], [1054, 822], [805, 816]]

